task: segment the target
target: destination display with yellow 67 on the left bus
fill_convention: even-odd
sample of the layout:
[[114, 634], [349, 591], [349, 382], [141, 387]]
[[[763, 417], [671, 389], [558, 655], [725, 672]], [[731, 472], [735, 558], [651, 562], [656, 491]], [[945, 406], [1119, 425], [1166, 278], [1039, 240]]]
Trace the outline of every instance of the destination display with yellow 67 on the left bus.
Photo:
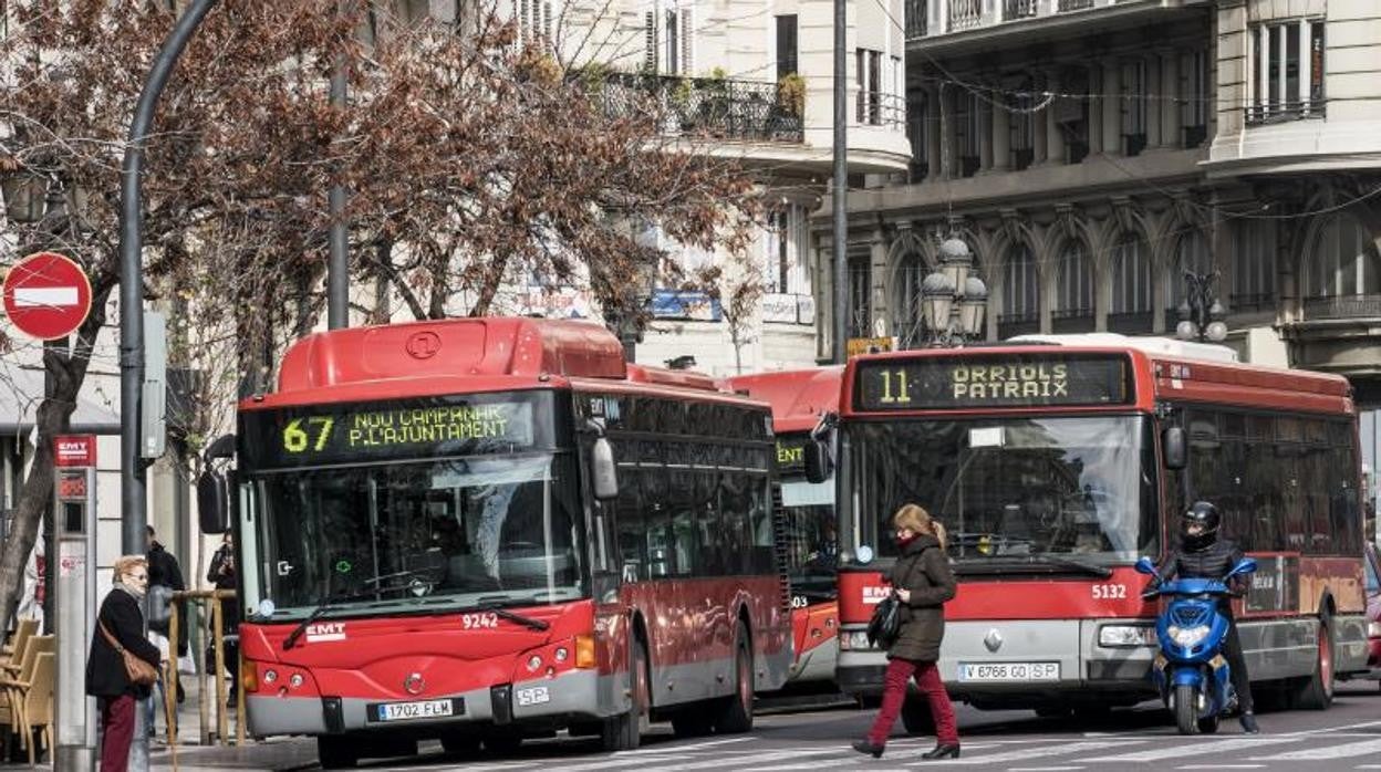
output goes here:
[[246, 413], [243, 421], [246, 449], [268, 467], [485, 453], [533, 445], [530, 402], [316, 406]]

